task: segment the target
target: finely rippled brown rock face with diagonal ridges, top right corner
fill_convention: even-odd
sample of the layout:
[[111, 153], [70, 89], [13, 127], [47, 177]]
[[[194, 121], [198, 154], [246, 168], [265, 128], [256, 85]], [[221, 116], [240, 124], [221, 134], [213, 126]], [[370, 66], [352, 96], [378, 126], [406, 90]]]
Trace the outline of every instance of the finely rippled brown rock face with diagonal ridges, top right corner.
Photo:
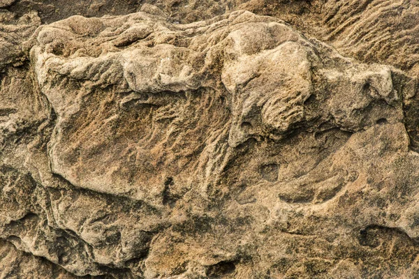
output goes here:
[[339, 50], [419, 74], [418, 1], [328, 1], [325, 9], [325, 40]]

